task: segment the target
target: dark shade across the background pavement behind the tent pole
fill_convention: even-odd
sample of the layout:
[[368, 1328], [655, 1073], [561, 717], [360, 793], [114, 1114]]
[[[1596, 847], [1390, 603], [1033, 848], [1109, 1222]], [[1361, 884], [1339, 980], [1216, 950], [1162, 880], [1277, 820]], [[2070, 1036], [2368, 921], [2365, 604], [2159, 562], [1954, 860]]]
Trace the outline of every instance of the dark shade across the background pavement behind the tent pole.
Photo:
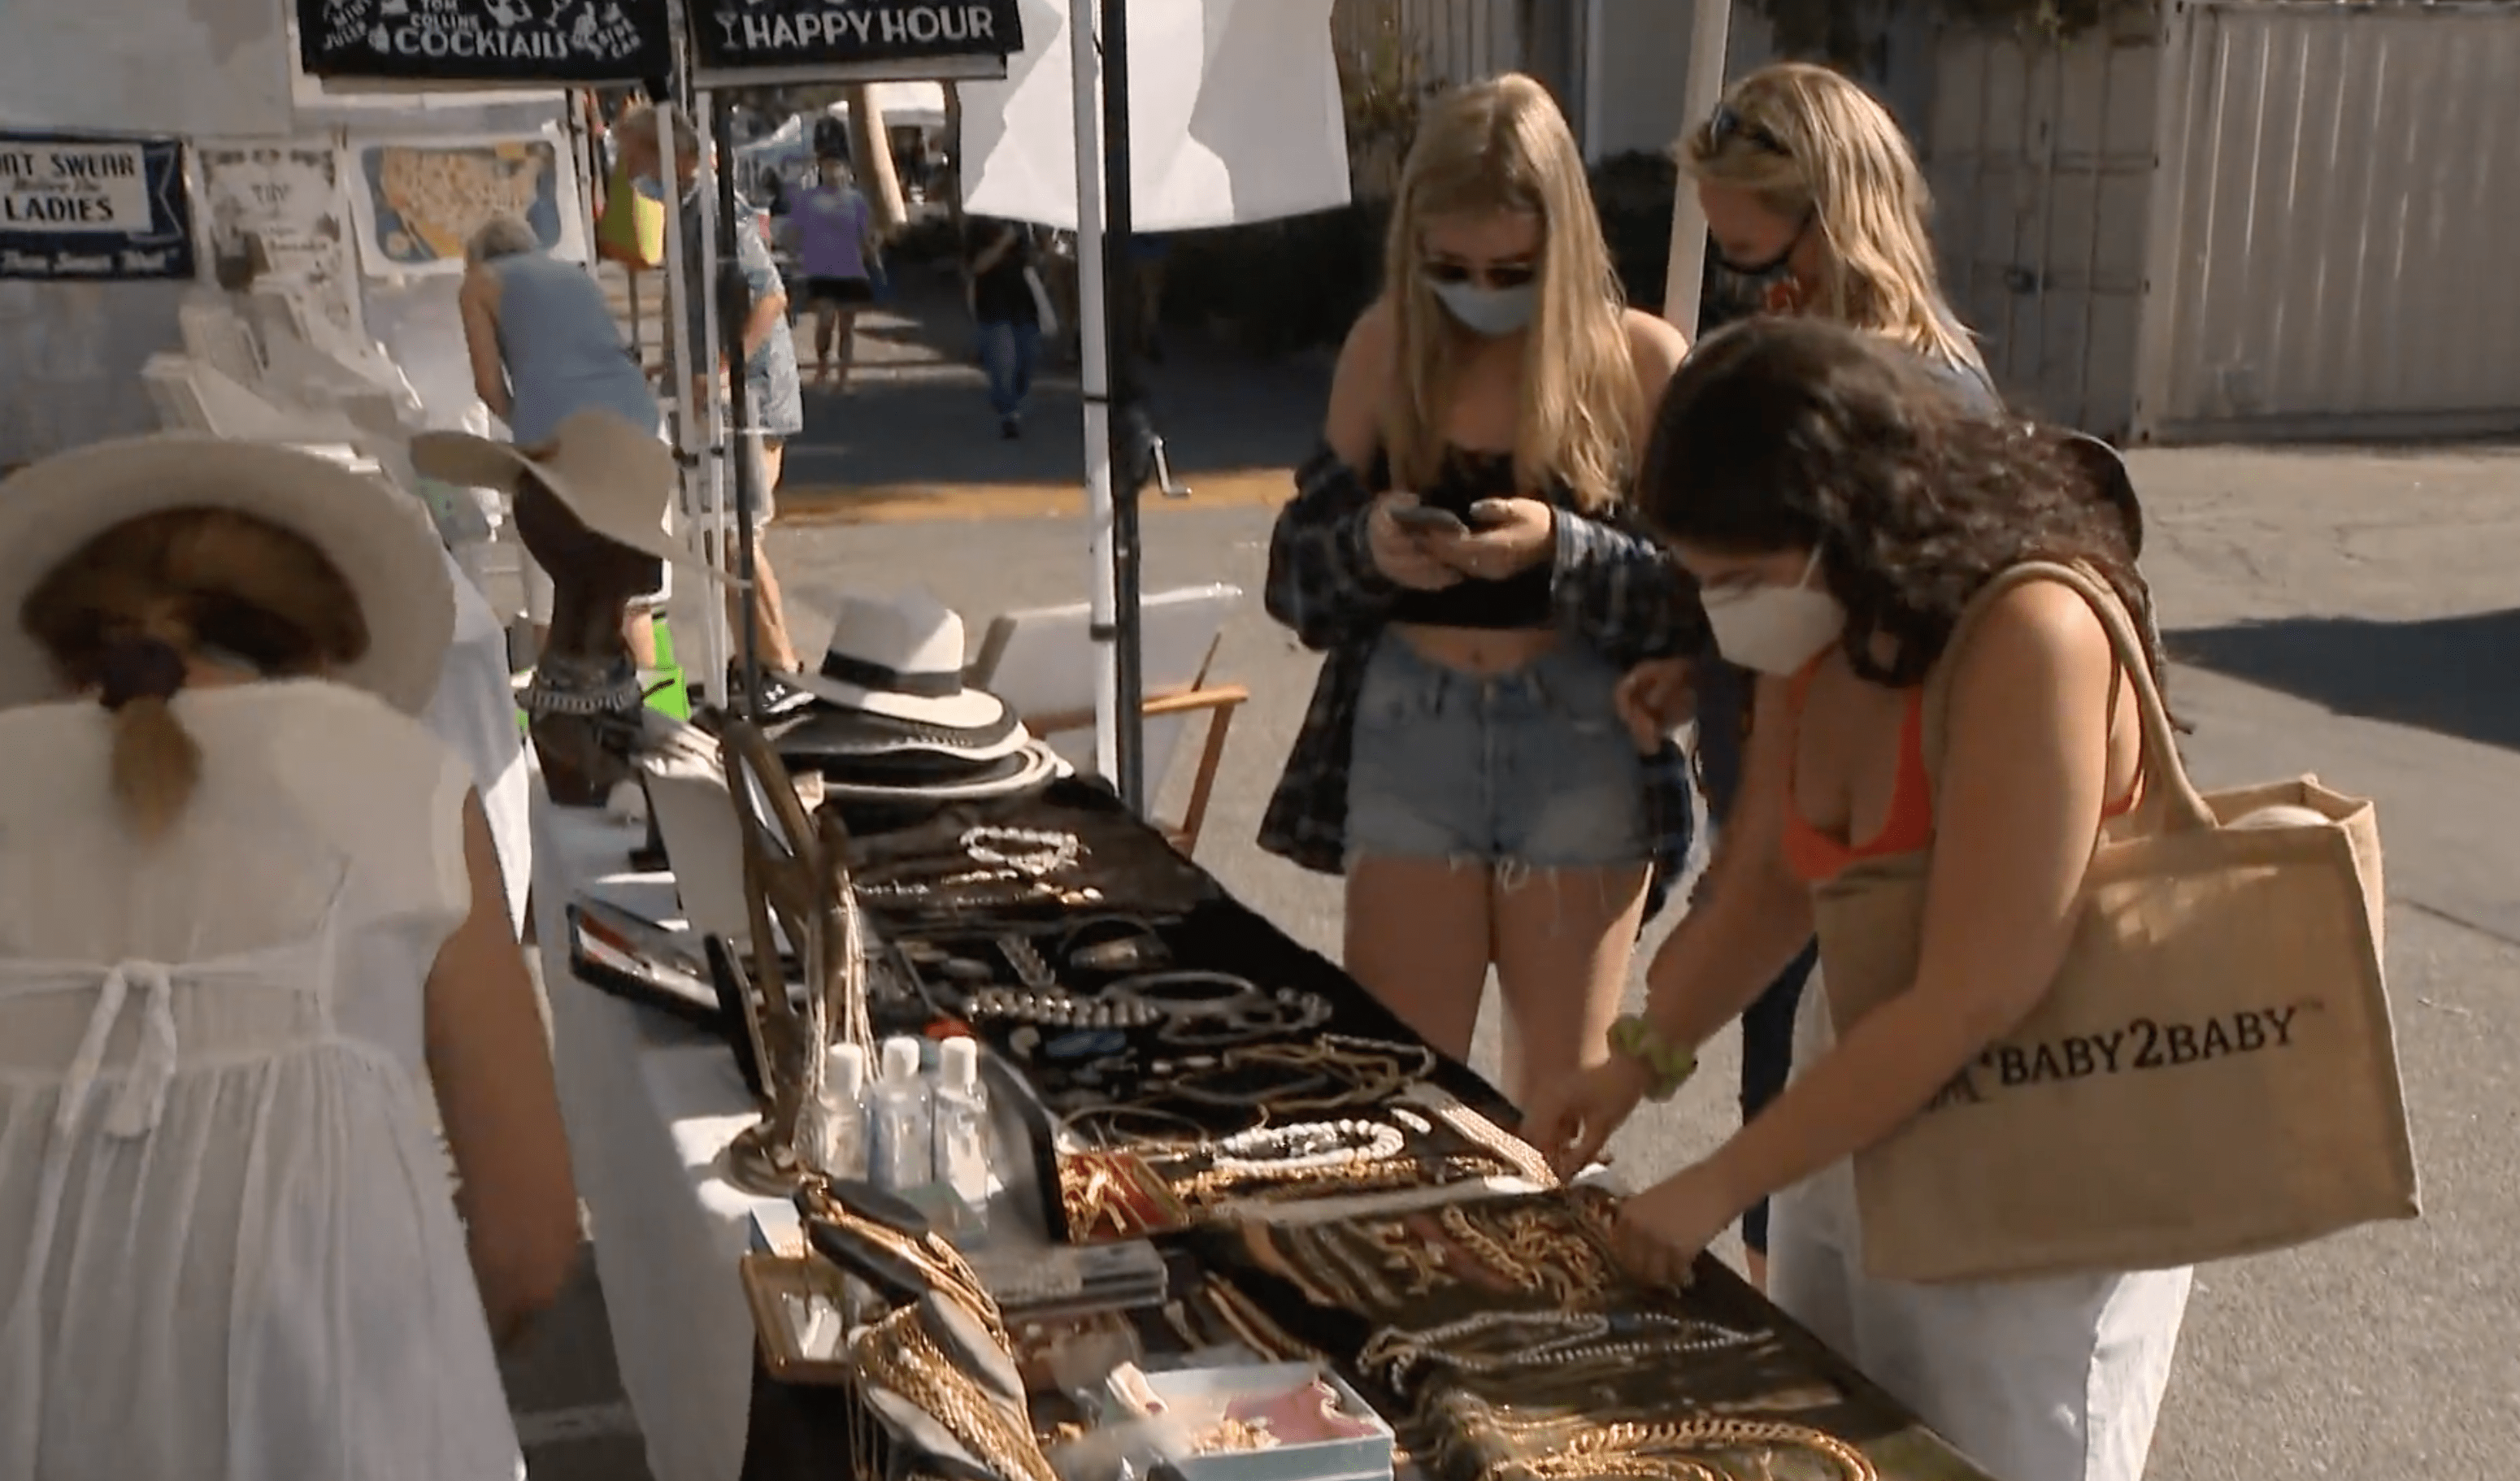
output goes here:
[[[811, 327], [796, 325], [811, 375]], [[1023, 438], [998, 436], [970, 360], [960, 287], [905, 272], [892, 302], [859, 317], [847, 395], [806, 388], [806, 431], [789, 443], [781, 506], [844, 514], [849, 504], [953, 501], [985, 489], [1074, 489], [1084, 481], [1084, 418], [1074, 368], [1043, 365]], [[1260, 360], [1172, 330], [1167, 363], [1144, 368], [1147, 403], [1174, 474], [1293, 468], [1318, 438], [1331, 358]]]

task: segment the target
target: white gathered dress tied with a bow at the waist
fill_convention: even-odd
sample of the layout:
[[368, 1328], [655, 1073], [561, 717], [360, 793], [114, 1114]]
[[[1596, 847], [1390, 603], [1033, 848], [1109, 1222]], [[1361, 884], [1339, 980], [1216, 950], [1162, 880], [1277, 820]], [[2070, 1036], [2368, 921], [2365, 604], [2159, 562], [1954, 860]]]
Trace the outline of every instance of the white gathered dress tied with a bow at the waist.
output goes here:
[[154, 846], [98, 705], [0, 713], [0, 1476], [509, 1481], [421, 1058], [469, 768], [333, 685], [174, 705]]

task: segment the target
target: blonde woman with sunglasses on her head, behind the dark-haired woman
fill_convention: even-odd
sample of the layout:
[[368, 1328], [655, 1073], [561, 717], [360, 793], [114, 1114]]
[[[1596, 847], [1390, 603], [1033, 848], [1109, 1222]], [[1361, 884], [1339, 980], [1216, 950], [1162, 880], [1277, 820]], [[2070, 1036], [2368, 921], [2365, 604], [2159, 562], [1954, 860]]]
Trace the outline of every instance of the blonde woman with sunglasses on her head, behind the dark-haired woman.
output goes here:
[[[1835, 320], [1910, 350], [1966, 406], [1998, 408], [1986, 363], [1933, 272], [1925, 174], [1890, 111], [1827, 68], [1761, 68], [1681, 139], [1716, 262], [1754, 287], [1761, 312]], [[1638, 733], [1696, 713], [1709, 816], [1731, 811], [1749, 725], [1749, 675], [1726, 662], [1651, 662], [1620, 710]], [[1792, 1068], [1794, 1002], [1814, 952], [1787, 965], [1741, 1018], [1741, 1118]], [[1751, 1282], [1767, 1282], [1767, 1201], [1741, 1219]]]

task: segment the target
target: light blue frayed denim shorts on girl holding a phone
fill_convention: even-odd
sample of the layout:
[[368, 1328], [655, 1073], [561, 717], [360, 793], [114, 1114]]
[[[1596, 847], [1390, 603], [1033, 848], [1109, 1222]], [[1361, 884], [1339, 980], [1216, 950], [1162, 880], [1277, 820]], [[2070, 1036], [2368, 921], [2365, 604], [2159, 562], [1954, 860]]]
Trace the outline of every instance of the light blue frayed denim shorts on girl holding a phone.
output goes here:
[[1618, 680], [1610, 660], [1572, 640], [1482, 678], [1383, 632], [1356, 698], [1348, 854], [1643, 864], [1643, 761], [1610, 703]]

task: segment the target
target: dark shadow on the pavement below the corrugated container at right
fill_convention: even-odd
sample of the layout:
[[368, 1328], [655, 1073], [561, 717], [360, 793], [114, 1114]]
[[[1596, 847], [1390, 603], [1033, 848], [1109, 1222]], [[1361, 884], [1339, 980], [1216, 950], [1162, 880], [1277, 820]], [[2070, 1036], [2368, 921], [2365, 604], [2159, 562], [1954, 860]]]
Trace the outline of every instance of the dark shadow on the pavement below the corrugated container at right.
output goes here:
[[2288, 617], [2170, 632], [2170, 657], [2321, 703], [2520, 751], [2520, 610], [2424, 622]]

